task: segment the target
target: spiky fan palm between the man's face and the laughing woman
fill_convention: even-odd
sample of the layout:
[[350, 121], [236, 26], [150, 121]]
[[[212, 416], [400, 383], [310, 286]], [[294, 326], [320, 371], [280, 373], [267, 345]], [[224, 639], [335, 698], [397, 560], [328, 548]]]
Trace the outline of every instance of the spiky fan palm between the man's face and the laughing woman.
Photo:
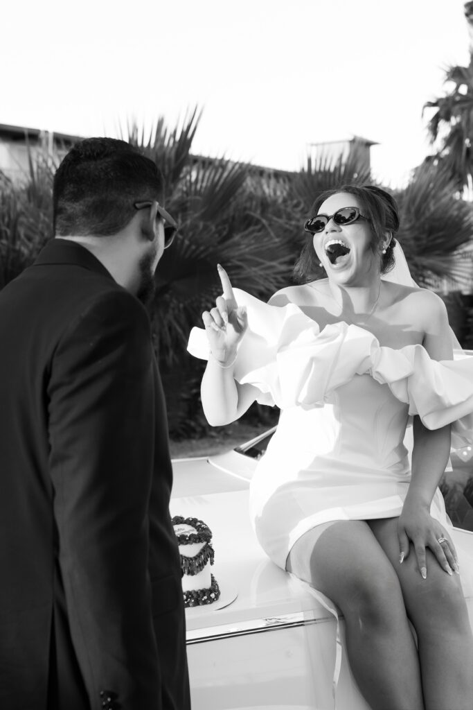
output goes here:
[[[287, 283], [290, 240], [274, 228], [273, 195], [250, 165], [191, 154], [199, 123], [197, 109], [179, 129], [163, 119], [145, 135], [136, 123], [128, 140], [155, 160], [165, 176], [166, 205], [180, 229], [165, 251], [150, 305], [155, 349], [174, 435], [189, 435], [203, 424], [199, 382], [203, 364], [186, 351], [191, 327], [221, 293], [216, 270], [223, 264], [233, 285], [267, 298]], [[275, 210], [277, 212], [277, 210]]]

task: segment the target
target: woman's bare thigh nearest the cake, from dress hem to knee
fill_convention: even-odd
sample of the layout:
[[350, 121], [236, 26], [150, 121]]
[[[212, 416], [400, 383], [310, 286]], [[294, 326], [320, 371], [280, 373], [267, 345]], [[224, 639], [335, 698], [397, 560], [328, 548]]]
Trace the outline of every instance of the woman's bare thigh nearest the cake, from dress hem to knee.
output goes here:
[[286, 569], [347, 606], [387, 603], [404, 610], [393, 566], [365, 520], [338, 520], [308, 530], [289, 553]]

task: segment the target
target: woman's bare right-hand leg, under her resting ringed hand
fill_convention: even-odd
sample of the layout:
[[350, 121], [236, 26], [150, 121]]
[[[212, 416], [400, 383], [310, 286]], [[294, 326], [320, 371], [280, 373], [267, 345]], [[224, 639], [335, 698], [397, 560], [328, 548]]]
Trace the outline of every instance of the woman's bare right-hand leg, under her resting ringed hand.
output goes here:
[[473, 635], [460, 577], [450, 577], [428, 550], [427, 579], [422, 579], [412, 547], [399, 564], [397, 518], [368, 523], [399, 576], [416, 629], [425, 708], [472, 710]]

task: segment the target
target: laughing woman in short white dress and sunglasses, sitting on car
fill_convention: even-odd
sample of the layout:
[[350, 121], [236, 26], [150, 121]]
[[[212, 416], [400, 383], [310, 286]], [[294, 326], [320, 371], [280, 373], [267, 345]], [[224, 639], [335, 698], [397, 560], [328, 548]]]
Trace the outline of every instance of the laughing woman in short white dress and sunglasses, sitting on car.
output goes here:
[[[343, 613], [368, 704], [472, 710], [473, 638], [437, 488], [450, 424], [473, 410], [472, 364], [452, 361], [439, 297], [383, 278], [399, 228], [388, 193], [344, 186], [311, 215], [296, 266], [306, 283], [269, 305], [219, 267], [223, 296], [202, 316], [204, 412], [226, 425], [255, 400], [282, 408], [251, 484], [255, 532]], [[313, 280], [317, 265], [326, 278]]]

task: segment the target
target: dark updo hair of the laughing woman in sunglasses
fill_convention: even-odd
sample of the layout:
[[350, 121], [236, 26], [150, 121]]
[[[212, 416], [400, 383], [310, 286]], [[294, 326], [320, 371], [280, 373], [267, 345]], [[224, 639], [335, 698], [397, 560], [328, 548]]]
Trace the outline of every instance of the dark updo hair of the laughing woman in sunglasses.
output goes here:
[[[334, 190], [326, 190], [318, 195], [311, 207], [308, 217], [315, 217], [321, 204], [340, 192], [347, 192], [354, 195], [360, 203], [362, 215], [369, 219], [372, 229], [371, 248], [373, 253], [379, 254], [381, 258], [381, 273], [388, 273], [394, 268], [394, 246], [396, 239], [394, 235], [399, 230], [399, 211], [396, 200], [389, 192], [382, 190], [375, 185], [340, 185]], [[350, 207], [347, 204], [347, 207]], [[386, 247], [386, 253], [382, 253], [384, 234], [391, 232], [391, 241]], [[318, 266], [318, 257], [313, 248], [313, 234], [307, 234], [306, 244], [301, 251], [296, 266], [294, 266], [294, 278], [299, 283], [308, 283], [317, 278], [322, 278], [323, 271]]]

